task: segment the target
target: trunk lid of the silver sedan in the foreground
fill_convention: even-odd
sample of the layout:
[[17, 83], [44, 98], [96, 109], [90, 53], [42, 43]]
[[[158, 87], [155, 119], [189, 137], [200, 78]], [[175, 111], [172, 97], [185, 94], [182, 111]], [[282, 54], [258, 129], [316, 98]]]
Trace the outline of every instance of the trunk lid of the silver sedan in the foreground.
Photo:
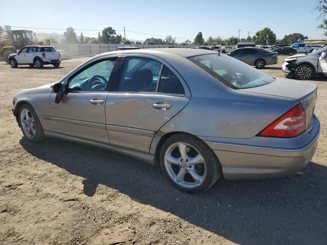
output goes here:
[[287, 97], [299, 101], [306, 112], [306, 130], [311, 130], [317, 101], [317, 86], [315, 84], [289, 79], [276, 79], [264, 86], [240, 89], [239, 91]]

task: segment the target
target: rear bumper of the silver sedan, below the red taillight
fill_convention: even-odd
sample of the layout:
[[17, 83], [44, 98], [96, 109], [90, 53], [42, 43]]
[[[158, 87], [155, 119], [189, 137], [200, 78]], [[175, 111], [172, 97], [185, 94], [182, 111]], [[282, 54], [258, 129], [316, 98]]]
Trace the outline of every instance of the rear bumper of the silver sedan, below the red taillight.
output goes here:
[[301, 148], [205, 142], [217, 155], [227, 180], [286, 177], [305, 168], [316, 152], [320, 124], [315, 116], [313, 120], [310, 140]]

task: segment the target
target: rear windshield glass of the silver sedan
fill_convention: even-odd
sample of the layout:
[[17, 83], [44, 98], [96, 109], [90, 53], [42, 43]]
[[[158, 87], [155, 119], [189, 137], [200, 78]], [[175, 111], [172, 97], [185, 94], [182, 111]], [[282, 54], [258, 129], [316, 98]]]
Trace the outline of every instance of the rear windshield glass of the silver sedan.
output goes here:
[[275, 79], [226, 55], [201, 55], [189, 58], [212, 76], [233, 89], [259, 87]]

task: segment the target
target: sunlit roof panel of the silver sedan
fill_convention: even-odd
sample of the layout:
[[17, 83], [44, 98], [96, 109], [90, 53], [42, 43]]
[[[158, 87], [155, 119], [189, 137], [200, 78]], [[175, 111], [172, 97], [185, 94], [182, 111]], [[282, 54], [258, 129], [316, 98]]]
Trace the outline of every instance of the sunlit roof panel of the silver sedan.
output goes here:
[[120, 50], [100, 54], [99, 56], [107, 56], [112, 54], [146, 54], [146, 55], [155, 55], [160, 57], [160, 54], [164, 55], [171, 53], [174, 55], [183, 56], [185, 58], [198, 56], [198, 55], [207, 55], [207, 54], [217, 54], [215, 51], [201, 50], [199, 48], [147, 48], [139, 50]]

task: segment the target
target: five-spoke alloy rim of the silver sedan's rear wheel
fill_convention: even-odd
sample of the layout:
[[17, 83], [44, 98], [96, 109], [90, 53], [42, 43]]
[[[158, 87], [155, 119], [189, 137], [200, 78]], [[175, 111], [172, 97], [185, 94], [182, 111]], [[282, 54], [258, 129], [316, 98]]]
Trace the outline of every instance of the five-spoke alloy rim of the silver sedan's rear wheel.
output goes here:
[[165, 153], [165, 167], [170, 178], [179, 186], [194, 188], [200, 186], [206, 176], [206, 162], [192, 145], [177, 142]]

